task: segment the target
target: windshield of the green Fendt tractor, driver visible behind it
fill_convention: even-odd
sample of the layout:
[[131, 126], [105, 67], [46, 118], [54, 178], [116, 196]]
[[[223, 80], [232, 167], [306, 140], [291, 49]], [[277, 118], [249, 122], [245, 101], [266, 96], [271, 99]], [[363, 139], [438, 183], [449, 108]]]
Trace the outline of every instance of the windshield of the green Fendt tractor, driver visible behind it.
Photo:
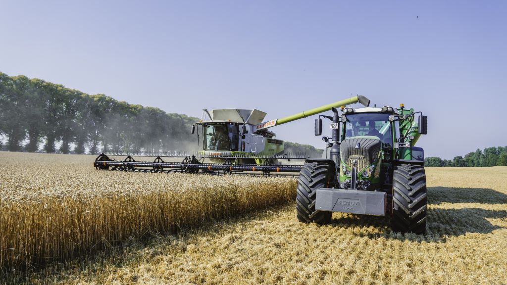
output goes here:
[[345, 137], [371, 135], [380, 138], [385, 145], [392, 146], [389, 114], [359, 113], [347, 115]]

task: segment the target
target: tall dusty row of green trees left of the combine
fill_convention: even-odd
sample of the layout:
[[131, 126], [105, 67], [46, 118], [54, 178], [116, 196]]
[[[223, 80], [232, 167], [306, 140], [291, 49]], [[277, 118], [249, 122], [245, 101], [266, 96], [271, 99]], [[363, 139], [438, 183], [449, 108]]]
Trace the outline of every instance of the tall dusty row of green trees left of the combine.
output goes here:
[[[198, 119], [0, 73], [0, 149], [96, 154], [186, 151]], [[57, 147], [58, 146], [58, 147]]]

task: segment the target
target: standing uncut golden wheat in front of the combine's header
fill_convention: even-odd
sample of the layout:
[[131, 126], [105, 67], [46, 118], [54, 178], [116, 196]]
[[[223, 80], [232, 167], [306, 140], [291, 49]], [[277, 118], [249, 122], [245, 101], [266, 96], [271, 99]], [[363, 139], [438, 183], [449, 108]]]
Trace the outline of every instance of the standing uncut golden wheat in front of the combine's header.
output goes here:
[[292, 178], [95, 170], [90, 156], [0, 152], [4, 274], [292, 200]]

